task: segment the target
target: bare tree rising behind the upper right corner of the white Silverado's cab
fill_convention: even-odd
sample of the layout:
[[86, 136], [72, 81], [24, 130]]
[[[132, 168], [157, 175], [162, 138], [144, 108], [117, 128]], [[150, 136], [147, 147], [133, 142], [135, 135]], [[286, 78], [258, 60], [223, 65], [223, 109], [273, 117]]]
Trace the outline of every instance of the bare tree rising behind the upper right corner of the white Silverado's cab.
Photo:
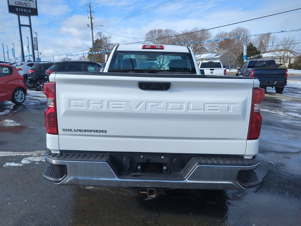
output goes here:
[[180, 38], [180, 45], [190, 47], [194, 53], [201, 53], [207, 51], [210, 48], [210, 42], [207, 42], [212, 38], [212, 34], [209, 31], [203, 31], [205, 28], [193, 28], [191, 30], [181, 31], [183, 35]]

